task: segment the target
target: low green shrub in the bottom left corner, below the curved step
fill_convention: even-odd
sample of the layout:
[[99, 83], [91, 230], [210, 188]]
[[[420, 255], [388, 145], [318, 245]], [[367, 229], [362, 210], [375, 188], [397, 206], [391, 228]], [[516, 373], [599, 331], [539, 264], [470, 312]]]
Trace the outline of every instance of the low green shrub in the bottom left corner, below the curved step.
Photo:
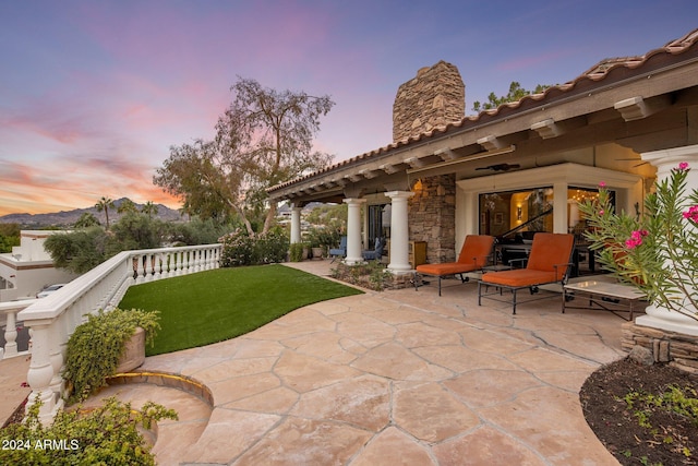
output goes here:
[[0, 430], [3, 465], [155, 465], [155, 455], [139, 426], [178, 419], [172, 409], [147, 402], [134, 410], [116, 397], [93, 410], [61, 410], [53, 423], [38, 419], [40, 403], [32, 405], [22, 423]]

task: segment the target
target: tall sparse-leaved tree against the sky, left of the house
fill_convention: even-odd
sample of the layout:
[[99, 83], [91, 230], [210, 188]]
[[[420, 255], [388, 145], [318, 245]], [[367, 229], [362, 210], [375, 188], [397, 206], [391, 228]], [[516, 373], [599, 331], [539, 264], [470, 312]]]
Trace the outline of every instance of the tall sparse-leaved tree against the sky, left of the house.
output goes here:
[[312, 144], [320, 117], [334, 101], [329, 96], [264, 88], [245, 79], [231, 89], [236, 98], [218, 119], [216, 139], [170, 147], [170, 157], [153, 181], [183, 198], [188, 208], [204, 218], [237, 214], [250, 235], [250, 216], [266, 210], [266, 232], [276, 215], [266, 188], [332, 162], [330, 155], [313, 152]]

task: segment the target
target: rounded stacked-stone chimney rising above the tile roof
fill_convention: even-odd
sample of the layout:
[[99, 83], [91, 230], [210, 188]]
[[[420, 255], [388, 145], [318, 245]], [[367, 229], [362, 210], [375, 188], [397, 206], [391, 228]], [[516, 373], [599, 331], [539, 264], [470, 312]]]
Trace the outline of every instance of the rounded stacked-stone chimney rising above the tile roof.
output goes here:
[[393, 104], [393, 142], [460, 121], [466, 116], [466, 86], [458, 69], [445, 61], [422, 68], [397, 89]]

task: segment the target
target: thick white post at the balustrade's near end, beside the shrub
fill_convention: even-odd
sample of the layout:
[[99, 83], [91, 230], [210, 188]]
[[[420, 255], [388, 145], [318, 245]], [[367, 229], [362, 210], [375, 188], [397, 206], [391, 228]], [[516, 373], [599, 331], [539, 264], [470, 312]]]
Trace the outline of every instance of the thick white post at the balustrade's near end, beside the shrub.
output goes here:
[[51, 345], [51, 322], [36, 321], [32, 323], [34, 331], [32, 362], [26, 374], [26, 381], [32, 387], [32, 393], [26, 405], [26, 409], [37, 402], [41, 402], [39, 408], [39, 419], [44, 423], [50, 423], [58, 409], [63, 406], [63, 401], [51, 390], [53, 379], [53, 366], [50, 358]]

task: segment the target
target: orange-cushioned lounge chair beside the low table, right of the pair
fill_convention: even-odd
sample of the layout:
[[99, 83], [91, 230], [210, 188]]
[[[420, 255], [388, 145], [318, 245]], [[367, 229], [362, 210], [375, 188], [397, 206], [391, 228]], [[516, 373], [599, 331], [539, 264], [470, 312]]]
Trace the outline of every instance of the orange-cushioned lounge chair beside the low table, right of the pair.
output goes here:
[[[517, 291], [528, 288], [531, 295], [538, 292], [540, 285], [567, 282], [571, 252], [575, 243], [574, 235], [538, 232], [533, 237], [531, 252], [526, 268], [491, 272], [482, 275], [478, 280], [478, 306], [482, 298], [502, 300], [502, 290], [512, 291], [512, 313], [516, 314]], [[515, 261], [512, 261], [515, 262]], [[495, 292], [483, 295], [483, 289], [495, 288]], [[554, 295], [553, 295], [554, 296]]]

